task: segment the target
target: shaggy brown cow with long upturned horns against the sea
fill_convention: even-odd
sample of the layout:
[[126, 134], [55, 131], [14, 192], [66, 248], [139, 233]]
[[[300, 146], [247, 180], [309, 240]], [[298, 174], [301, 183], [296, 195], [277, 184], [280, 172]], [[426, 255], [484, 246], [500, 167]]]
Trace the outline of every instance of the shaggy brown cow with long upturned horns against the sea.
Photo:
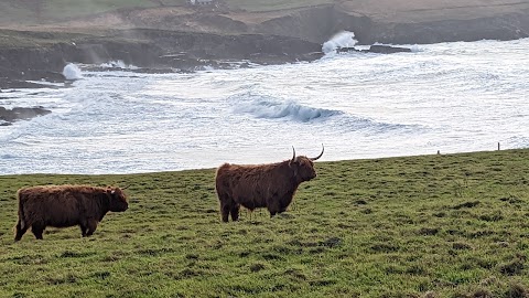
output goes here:
[[255, 210], [267, 207], [270, 217], [284, 212], [292, 202], [295, 190], [301, 182], [316, 177], [315, 158], [294, 156], [290, 160], [270, 164], [239, 166], [224, 163], [217, 169], [216, 190], [220, 201], [223, 221], [239, 219], [240, 205]]

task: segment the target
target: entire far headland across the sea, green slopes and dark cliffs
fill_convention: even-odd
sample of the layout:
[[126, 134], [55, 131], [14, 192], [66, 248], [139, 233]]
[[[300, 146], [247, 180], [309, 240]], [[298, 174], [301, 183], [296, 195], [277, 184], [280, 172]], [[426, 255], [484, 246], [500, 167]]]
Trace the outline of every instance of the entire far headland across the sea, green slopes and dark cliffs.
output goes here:
[[[60, 72], [66, 62], [97, 63], [91, 57], [101, 55], [94, 51], [134, 65], [182, 68], [225, 58], [313, 60], [339, 31], [353, 31], [360, 44], [529, 36], [529, 2], [520, 0], [216, 1], [0, 1], [0, 81], [33, 70]], [[42, 78], [40, 72], [31, 77]]]

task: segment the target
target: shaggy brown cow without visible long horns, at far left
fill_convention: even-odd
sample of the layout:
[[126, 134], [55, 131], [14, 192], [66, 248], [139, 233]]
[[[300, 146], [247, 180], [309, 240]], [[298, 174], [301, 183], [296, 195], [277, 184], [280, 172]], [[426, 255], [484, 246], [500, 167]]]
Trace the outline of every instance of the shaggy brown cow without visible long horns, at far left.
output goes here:
[[122, 212], [129, 206], [119, 188], [88, 185], [45, 185], [18, 191], [19, 222], [14, 241], [31, 226], [37, 240], [46, 226], [79, 225], [83, 236], [90, 236], [107, 212]]

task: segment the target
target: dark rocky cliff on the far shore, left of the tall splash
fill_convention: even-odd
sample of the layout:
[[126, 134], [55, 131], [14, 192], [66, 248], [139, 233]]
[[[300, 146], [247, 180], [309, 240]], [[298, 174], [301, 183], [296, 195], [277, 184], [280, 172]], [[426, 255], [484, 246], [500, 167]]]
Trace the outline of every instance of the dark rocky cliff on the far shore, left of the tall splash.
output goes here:
[[34, 85], [24, 81], [62, 82], [62, 71], [71, 62], [97, 65], [120, 60], [151, 72], [177, 72], [204, 65], [230, 67], [230, 61], [260, 64], [307, 61], [320, 57], [311, 53], [321, 51], [317, 43], [269, 34], [226, 35], [152, 29], [112, 30], [104, 36], [62, 32], [14, 34], [31, 35], [34, 44], [0, 46], [0, 88]]

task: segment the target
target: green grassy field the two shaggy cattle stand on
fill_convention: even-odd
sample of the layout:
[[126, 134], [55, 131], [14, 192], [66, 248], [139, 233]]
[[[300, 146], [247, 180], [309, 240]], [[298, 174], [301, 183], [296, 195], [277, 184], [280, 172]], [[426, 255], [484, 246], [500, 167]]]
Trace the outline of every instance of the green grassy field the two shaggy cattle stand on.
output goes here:
[[[212, 169], [0, 177], [0, 297], [528, 297], [529, 150], [316, 168], [285, 214], [227, 224]], [[17, 189], [47, 183], [130, 206], [13, 243]]]

